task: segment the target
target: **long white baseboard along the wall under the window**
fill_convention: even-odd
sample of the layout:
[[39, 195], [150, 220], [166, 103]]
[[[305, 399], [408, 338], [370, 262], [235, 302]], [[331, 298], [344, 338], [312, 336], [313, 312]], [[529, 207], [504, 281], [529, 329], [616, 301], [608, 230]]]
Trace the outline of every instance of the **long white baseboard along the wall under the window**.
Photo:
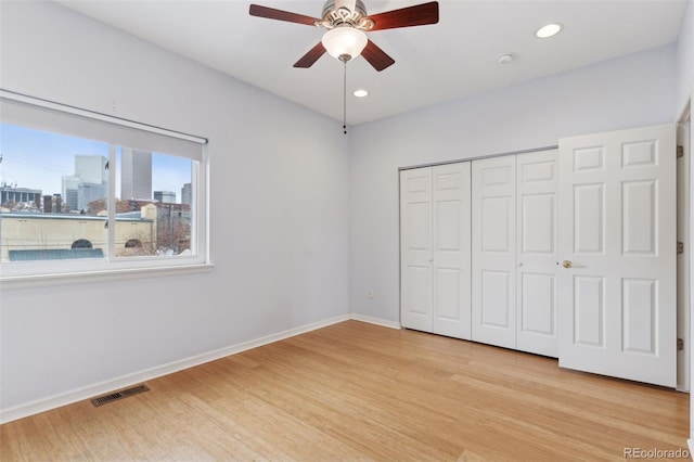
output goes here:
[[[266, 335], [260, 338], [243, 342], [241, 344], [220, 348], [214, 351], [208, 351], [202, 355], [196, 355], [179, 361], [169, 362], [167, 364], [157, 365], [155, 368], [134, 372], [117, 378], [104, 381], [104, 382], [89, 385], [86, 387], [77, 388], [70, 392], [53, 395], [48, 398], [37, 399], [35, 401], [15, 406], [13, 408], [2, 409], [0, 410], [0, 424], [12, 422], [29, 415], [38, 414], [39, 412], [49, 411], [51, 409], [70, 405], [73, 402], [82, 401], [85, 399], [89, 399], [94, 396], [103, 395], [110, 392], [126, 388], [145, 381], [150, 381], [156, 377], [160, 377], [163, 375], [181, 371], [183, 369], [200, 365], [205, 362], [209, 362], [220, 358], [224, 358], [227, 356], [235, 355], [237, 352], [245, 351], [252, 348], [257, 348], [259, 346], [271, 344], [273, 342], [279, 342], [284, 338], [293, 337], [295, 335], [304, 334], [306, 332], [314, 331], [317, 329], [321, 329], [332, 324], [336, 324], [338, 322], [347, 321], [349, 319], [354, 319], [354, 318], [350, 315], [336, 316], [334, 318], [329, 318], [322, 321], [301, 325], [299, 328], [294, 328], [283, 332], [278, 332], [275, 334]], [[374, 323], [377, 323], [377, 322], [374, 322]]]

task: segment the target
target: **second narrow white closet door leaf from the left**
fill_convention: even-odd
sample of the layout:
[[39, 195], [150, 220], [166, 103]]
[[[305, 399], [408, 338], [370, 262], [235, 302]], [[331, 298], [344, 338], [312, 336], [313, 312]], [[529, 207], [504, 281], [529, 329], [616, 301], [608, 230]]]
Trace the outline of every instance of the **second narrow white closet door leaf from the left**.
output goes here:
[[432, 168], [434, 333], [471, 339], [470, 162]]

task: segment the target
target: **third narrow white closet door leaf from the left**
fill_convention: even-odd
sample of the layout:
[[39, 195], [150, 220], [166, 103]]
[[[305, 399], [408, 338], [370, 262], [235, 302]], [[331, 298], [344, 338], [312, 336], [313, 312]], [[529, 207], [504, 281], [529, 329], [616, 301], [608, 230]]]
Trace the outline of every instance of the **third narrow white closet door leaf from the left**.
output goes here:
[[472, 339], [515, 348], [515, 156], [472, 165]]

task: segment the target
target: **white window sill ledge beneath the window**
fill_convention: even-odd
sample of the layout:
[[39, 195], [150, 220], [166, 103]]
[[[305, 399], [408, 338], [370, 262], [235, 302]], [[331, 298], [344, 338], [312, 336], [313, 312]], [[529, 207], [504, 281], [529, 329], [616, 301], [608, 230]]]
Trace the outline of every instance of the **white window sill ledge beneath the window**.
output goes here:
[[11, 288], [44, 287], [50, 285], [116, 281], [134, 278], [142, 279], [195, 274], [211, 271], [214, 268], [215, 265], [213, 264], [194, 264], [102, 271], [76, 271], [52, 274], [0, 277], [0, 288], [5, 291]]

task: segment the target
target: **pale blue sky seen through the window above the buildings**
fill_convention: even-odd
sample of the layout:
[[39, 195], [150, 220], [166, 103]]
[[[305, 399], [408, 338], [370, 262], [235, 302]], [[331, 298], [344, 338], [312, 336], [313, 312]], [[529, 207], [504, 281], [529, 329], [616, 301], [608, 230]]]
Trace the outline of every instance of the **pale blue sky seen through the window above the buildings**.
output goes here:
[[[136, 147], [137, 146], [130, 146]], [[75, 175], [75, 155], [108, 157], [108, 144], [0, 123], [0, 184], [62, 193], [62, 177]], [[118, 171], [116, 170], [116, 174]], [[171, 191], [181, 201], [181, 188], [191, 182], [191, 161], [152, 154], [152, 191]], [[116, 178], [116, 196], [120, 181]]]

